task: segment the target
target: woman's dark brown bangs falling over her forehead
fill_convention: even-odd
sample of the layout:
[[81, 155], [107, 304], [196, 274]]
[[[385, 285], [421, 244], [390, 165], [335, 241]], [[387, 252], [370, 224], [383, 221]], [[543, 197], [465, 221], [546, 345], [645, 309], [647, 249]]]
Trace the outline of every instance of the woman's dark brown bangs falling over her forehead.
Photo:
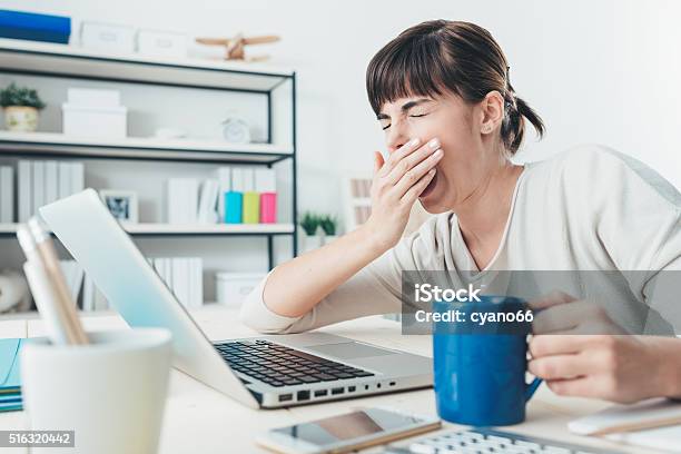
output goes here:
[[456, 95], [458, 75], [442, 51], [436, 32], [401, 34], [374, 56], [366, 70], [366, 91], [376, 115], [399, 98]]

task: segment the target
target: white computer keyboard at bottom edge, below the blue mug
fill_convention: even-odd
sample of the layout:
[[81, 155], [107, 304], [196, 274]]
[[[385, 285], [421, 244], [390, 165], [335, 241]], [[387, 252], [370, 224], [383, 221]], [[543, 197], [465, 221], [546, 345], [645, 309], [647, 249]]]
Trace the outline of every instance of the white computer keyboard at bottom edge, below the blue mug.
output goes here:
[[487, 428], [446, 432], [418, 438], [408, 446], [388, 446], [386, 454], [604, 454], [614, 451], [596, 450], [534, 436], [512, 434]]

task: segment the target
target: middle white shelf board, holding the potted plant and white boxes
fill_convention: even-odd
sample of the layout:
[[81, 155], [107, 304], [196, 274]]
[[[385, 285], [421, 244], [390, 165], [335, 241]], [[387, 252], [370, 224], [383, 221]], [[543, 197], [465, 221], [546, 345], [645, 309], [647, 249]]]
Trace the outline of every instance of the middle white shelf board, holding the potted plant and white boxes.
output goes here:
[[220, 140], [127, 137], [99, 139], [58, 132], [0, 131], [0, 154], [50, 154], [127, 159], [272, 162], [293, 155], [292, 146]]

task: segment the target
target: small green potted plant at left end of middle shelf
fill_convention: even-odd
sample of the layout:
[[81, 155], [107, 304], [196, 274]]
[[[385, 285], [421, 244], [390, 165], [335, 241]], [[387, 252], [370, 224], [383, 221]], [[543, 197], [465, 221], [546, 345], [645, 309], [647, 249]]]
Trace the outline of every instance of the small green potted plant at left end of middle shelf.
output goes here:
[[14, 82], [0, 90], [0, 106], [4, 109], [4, 125], [10, 131], [32, 132], [38, 128], [38, 111], [45, 102], [38, 92]]

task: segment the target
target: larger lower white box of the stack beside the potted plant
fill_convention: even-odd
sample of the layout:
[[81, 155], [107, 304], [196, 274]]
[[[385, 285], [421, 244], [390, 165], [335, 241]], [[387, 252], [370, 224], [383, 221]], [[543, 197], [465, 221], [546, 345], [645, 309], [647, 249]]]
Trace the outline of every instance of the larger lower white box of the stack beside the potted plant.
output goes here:
[[128, 109], [117, 107], [92, 107], [61, 105], [63, 134], [79, 137], [121, 139], [127, 136]]

